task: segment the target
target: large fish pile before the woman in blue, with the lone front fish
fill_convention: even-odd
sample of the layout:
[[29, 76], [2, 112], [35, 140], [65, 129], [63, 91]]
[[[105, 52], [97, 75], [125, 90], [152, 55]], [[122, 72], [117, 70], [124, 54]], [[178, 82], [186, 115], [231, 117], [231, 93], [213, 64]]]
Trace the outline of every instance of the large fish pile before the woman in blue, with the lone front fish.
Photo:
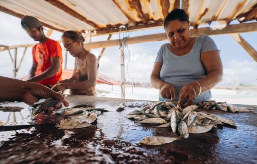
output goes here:
[[[207, 112], [196, 112], [197, 108], [197, 105], [191, 105], [182, 109], [172, 102], [160, 101], [151, 103], [141, 110], [134, 110], [125, 117], [134, 119], [136, 123], [171, 127], [172, 131], [179, 133], [182, 139], [188, 138], [189, 133], [205, 133], [223, 123], [236, 127], [231, 119]], [[164, 144], [177, 139], [177, 137], [147, 137], [141, 140], [141, 143], [158, 145], [160, 141]]]

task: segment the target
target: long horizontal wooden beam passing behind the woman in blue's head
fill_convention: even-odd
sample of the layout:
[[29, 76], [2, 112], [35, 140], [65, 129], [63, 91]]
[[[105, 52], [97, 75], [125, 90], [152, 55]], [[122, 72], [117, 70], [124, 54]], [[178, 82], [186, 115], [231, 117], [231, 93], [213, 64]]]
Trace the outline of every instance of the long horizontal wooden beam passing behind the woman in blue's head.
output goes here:
[[[191, 36], [202, 36], [202, 35], [222, 35], [222, 34], [233, 34], [233, 33], [244, 33], [244, 32], [255, 32], [257, 31], [257, 23], [243, 23], [243, 24], [234, 24], [227, 25], [223, 29], [211, 29], [210, 27], [198, 28], [190, 30]], [[131, 37], [126, 39], [125, 44], [135, 44], [143, 42], [152, 42], [152, 41], [164, 41], [167, 40], [165, 33], [152, 34], [138, 37]], [[101, 47], [111, 47], [118, 46], [119, 40], [110, 40], [110, 41], [98, 41], [92, 43], [84, 44], [84, 47], [89, 49], [101, 48]]]

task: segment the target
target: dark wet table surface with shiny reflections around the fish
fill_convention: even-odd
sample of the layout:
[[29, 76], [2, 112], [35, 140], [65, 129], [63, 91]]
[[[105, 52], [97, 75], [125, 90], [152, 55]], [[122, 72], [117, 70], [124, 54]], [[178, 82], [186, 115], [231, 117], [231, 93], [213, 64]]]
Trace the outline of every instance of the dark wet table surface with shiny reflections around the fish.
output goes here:
[[[97, 123], [88, 128], [60, 130], [54, 124], [0, 132], [0, 164], [18, 163], [167, 163], [167, 164], [257, 164], [257, 106], [250, 113], [207, 111], [234, 120], [237, 128], [224, 125], [203, 134], [189, 134], [186, 140], [161, 146], [139, 143], [146, 136], [175, 137], [171, 128], [141, 125], [124, 117], [151, 101], [69, 96], [70, 106], [89, 104], [105, 108]], [[123, 103], [125, 110], [116, 112]], [[22, 102], [21, 111], [0, 111], [1, 125], [31, 122], [31, 110]], [[245, 105], [237, 105], [245, 106]]]

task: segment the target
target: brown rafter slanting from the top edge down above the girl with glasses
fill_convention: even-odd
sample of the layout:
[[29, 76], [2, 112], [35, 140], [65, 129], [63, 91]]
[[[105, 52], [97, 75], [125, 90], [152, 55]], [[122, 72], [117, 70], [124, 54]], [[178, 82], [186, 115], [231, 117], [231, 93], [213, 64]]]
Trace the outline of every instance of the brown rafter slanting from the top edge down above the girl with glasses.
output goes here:
[[90, 26], [94, 27], [97, 30], [103, 29], [101, 28], [98, 24], [94, 23], [93, 21], [88, 20], [86, 17], [82, 16], [81, 14], [79, 14], [78, 12], [74, 11], [73, 9], [69, 8], [68, 6], [66, 6], [65, 4], [63, 4], [62, 2], [60, 2], [59, 0], [45, 0], [48, 3], [54, 5], [55, 7], [63, 10], [64, 12], [70, 14], [71, 16], [86, 22], [87, 24], [89, 24]]

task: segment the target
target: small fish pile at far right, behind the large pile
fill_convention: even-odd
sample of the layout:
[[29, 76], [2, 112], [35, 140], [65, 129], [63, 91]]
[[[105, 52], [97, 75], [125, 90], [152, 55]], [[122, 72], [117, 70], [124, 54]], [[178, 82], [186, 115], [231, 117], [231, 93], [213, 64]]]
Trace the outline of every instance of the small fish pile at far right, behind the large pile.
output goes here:
[[231, 104], [228, 104], [226, 102], [216, 102], [215, 100], [211, 101], [201, 101], [197, 104], [197, 106], [205, 108], [205, 109], [210, 109], [210, 110], [222, 110], [224, 112], [230, 111], [232, 113], [235, 112], [251, 112], [249, 108], [247, 107], [236, 107]]

